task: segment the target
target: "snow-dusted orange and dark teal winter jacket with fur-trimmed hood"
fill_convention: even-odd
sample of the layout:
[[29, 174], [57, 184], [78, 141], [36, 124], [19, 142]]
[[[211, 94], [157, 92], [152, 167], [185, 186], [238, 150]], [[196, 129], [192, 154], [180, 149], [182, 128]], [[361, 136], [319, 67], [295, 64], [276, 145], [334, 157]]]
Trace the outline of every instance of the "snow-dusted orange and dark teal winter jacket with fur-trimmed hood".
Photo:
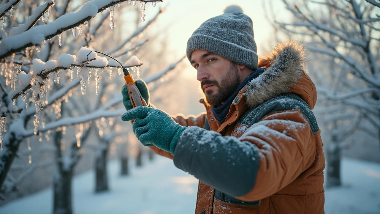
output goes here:
[[[311, 112], [317, 92], [303, 66], [302, 46], [295, 42], [281, 43], [259, 60], [259, 67], [267, 69], [239, 92], [222, 125], [206, 104], [207, 112], [197, 117], [174, 118], [182, 126], [204, 128], [202, 131], [189, 127], [198, 130], [192, 133], [186, 129], [174, 151], [174, 164], [199, 179], [196, 214], [324, 213], [325, 157], [320, 130]], [[231, 142], [245, 144], [238, 146], [240, 150], [230, 147], [227, 151], [247, 155], [254, 151], [252, 168], [243, 164], [245, 168], [234, 173], [235, 168], [241, 169], [240, 156], [224, 157], [228, 160], [223, 162], [223, 157], [219, 157], [222, 149], [214, 150], [212, 158], [204, 159], [207, 144], [222, 148]], [[254, 148], [247, 150], [247, 142]], [[151, 149], [173, 159], [168, 152]], [[215, 157], [218, 163], [214, 163]], [[222, 171], [223, 168], [230, 171], [215, 177], [221, 171], [218, 164], [222, 164]], [[235, 186], [242, 189], [235, 191]]]

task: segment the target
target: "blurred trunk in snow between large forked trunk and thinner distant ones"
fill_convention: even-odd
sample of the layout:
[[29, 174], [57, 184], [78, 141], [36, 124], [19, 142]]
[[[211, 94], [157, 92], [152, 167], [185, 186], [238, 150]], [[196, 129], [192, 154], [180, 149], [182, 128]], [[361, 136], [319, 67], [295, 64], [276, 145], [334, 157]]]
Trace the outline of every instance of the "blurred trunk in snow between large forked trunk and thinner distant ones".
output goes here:
[[[104, 144], [105, 142], [102, 143]], [[103, 192], [108, 190], [107, 153], [108, 146], [105, 145], [103, 148], [100, 148], [100, 151], [98, 151], [97, 157], [95, 158], [95, 192]]]

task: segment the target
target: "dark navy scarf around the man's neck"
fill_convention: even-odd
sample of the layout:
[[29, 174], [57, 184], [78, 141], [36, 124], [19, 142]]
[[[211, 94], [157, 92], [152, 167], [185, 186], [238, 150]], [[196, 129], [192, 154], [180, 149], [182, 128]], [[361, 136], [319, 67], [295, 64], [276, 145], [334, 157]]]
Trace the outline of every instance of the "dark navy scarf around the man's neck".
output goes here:
[[232, 101], [235, 99], [237, 93], [245, 86], [249, 81], [257, 78], [261, 73], [263, 73], [265, 68], [259, 68], [250, 75], [244, 79], [244, 81], [237, 87], [236, 91], [226, 100], [224, 104], [217, 104], [212, 106], [212, 112], [214, 113], [215, 118], [219, 121], [220, 124], [222, 124], [227, 117], [228, 112], [230, 111], [230, 106], [232, 104]]

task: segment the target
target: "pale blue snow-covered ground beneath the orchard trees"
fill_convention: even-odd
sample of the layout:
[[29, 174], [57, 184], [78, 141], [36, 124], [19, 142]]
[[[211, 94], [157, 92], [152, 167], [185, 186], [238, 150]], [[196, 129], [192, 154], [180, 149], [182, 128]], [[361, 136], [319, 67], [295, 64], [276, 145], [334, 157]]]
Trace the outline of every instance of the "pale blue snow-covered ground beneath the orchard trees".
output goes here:
[[[133, 164], [133, 163], [131, 163]], [[119, 176], [119, 163], [109, 163], [111, 191], [94, 194], [94, 174], [86, 172], [73, 182], [75, 214], [193, 214], [198, 180], [156, 157], [131, 176]], [[344, 158], [344, 187], [326, 190], [326, 214], [380, 213], [380, 164]], [[52, 212], [51, 188], [0, 207], [2, 214]]]

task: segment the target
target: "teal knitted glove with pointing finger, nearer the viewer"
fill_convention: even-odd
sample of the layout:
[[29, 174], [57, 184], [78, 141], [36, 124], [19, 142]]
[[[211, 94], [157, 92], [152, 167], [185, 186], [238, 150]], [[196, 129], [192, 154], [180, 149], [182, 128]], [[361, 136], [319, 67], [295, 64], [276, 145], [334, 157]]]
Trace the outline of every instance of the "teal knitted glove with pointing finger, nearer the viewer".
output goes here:
[[153, 144], [172, 155], [179, 136], [186, 129], [176, 123], [166, 112], [145, 106], [128, 110], [121, 119], [123, 121], [135, 119], [132, 129], [142, 145]]

